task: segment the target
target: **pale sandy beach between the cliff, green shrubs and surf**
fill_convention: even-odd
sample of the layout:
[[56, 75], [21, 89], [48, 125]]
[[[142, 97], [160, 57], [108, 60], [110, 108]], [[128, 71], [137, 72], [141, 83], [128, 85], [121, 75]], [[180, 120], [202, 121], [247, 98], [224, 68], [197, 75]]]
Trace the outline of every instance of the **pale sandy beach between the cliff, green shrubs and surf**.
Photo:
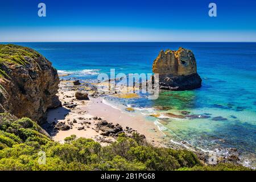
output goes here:
[[[122, 126], [127, 135], [137, 132], [144, 135], [147, 142], [154, 146], [165, 146], [164, 133], [153, 122], [146, 121], [141, 115], [109, 105], [101, 96], [91, 97], [93, 91], [86, 86], [86, 83], [74, 85], [73, 81], [61, 80], [59, 87], [57, 96], [62, 106], [48, 111], [47, 122], [49, 126], [64, 123], [69, 125], [70, 129], [55, 130], [48, 126], [53, 140], [64, 143], [64, 138], [76, 135], [76, 137], [92, 138], [106, 145], [117, 138], [103, 136], [102, 131], [97, 129], [97, 123], [107, 121]], [[77, 90], [89, 93], [89, 100], [77, 100], [75, 97]], [[117, 96], [119, 97], [120, 94]]]

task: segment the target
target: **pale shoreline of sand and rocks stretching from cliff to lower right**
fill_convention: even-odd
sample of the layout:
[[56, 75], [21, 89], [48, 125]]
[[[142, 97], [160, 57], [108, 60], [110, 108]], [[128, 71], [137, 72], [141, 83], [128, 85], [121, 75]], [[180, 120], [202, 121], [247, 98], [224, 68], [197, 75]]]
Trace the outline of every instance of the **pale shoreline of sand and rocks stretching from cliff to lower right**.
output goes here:
[[[95, 97], [95, 90], [92, 89], [90, 83], [83, 80], [81, 85], [74, 85], [72, 79], [61, 80], [59, 85], [59, 96], [63, 106], [51, 109], [48, 111], [47, 124], [44, 129], [50, 134], [56, 142], [64, 143], [64, 138], [76, 135], [76, 137], [91, 138], [99, 142], [102, 146], [112, 143], [117, 138], [115, 136], [102, 135], [104, 130], [101, 131], [98, 123], [106, 121], [111, 125], [119, 125], [122, 127], [122, 132], [126, 135], [131, 135], [131, 131], [144, 135], [147, 142], [155, 147], [173, 148], [174, 150], [185, 149], [194, 152], [201, 162], [205, 164], [217, 164], [226, 162], [230, 159], [216, 156], [211, 151], [203, 151], [200, 148], [192, 146], [187, 142], [176, 142], [170, 137], [166, 136], [164, 131], [159, 129], [155, 122], [147, 121], [142, 115], [135, 112], [125, 111], [125, 106], [119, 107], [112, 105], [104, 100], [102, 96]], [[92, 85], [88, 85], [92, 84]], [[89, 100], [77, 100], [75, 93], [77, 90], [84, 90], [89, 93]], [[72, 107], [72, 108], [69, 108]], [[100, 118], [94, 119], [94, 118]], [[76, 120], [74, 123], [73, 120]], [[157, 120], [158, 118], [156, 118]], [[52, 122], [55, 122], [52, 125]], [[57, 123], [63, 122], [65, 125], [71, 124], [71, 129], [68, 130], [55, 130], [54, 127]], [[90, 123], [90, 124], [88, 124]], [[82, 127], [82, 129], [80, 129]], [[116, 127], [116, 126], [115, 126]], [[127, 128], [129, 130], [127, 130]], [[232, 163], [238, 163], [238, 157], [235, 156], [231, 159]]]

